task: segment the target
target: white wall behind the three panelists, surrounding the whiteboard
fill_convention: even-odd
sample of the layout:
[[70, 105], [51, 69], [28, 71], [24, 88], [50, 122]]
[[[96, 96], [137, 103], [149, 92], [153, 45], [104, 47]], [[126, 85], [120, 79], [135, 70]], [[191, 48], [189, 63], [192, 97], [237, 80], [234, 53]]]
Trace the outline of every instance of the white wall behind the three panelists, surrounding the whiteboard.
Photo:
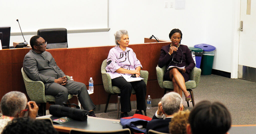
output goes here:
[[[182, 44], [215, 46], [213, 69], [231, 72], [233, 1], [187, 0], [185, 9], [169, 8], [169, 5], [164, 8], [165, 1], [169, 4], [173, 0], [110, 0], [110, 31], [68, 34], [68, 45], [115, 45], [113, 34], [120, 29], [129, 32], [130, 44], [144, 43], [144, 38], [152, 34], [169, 40], [170, 30], [179, 28], [183, 33]], [[32, 36], [26, 35], [26, 41], [29, 42]], [[17, 41], [22, 42], [22, 36], [11, 36], [10, 42]]]

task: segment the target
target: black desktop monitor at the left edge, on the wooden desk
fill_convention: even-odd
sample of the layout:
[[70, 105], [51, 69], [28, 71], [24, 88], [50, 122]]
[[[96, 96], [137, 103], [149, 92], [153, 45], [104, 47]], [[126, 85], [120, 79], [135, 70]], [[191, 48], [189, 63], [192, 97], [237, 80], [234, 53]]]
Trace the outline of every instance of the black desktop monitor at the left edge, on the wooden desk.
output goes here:
[[0, 40], [2, 43], [2, 48], [3, 49], [8, 49], [10, 46], [10, 32], [11, 32], [11, 27], [10, 26], [0, 26]]

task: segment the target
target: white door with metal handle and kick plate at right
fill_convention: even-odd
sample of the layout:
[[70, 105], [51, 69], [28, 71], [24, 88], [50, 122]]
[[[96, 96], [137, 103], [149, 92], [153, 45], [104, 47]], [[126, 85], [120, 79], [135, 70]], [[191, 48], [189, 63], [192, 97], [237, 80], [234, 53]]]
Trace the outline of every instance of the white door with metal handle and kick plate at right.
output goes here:
[[256, 81], [255, 0], [241, 0], [240, 21], [243, 21], [243, 31], [239, 32], [238, 78]]

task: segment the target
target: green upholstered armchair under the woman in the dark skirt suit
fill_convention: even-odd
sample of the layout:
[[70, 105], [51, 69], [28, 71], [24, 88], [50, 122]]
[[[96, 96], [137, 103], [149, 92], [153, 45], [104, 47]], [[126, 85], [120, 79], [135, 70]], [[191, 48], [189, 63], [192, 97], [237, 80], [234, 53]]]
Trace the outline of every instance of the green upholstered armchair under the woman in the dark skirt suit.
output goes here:
[[[166, 93], [167, 90], [173, 89], [173, 82], [172, 81], [164, 81], [163, 80], [165, 70], [166, 70], [166, 66], [160, 68], [157, 65], [157, 67], [156, 67], [157, 81], [158, 81], [159, 86], [161, 88], [165, 89], [164, 94]], [[198, 86], [198, 83], [199, 83], [199, 80], [200, 80], [200, 75], [201, 75], [201, 69], [197, 68], [197, 67], [194, 67], [194, 69], [191, 70], [190, 73], [189, 73], [190, 81], [185, 82], [187, 91], [189, 91], [190, 94], [191, 94], [191, 100], [192, 100], [193, 106], [195, 105], [195, 102], [194, 102], [194, 95], [193, 95], [192, 89], [196, 88]], [[189, 106], [188, 102], [187, 102], [187, 104]]]

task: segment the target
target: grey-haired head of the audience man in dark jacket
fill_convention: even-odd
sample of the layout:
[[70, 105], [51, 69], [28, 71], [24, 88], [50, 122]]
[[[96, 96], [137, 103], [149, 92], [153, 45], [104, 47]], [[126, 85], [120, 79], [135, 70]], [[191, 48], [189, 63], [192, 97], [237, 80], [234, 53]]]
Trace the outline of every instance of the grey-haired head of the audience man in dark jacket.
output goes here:
[[180, 105], [182, 104], [182, 98], [178, 93], [169, 92], [165, 94], [162, 99], [163, 111], [167, 115], [172, 115], [179, 111]]

